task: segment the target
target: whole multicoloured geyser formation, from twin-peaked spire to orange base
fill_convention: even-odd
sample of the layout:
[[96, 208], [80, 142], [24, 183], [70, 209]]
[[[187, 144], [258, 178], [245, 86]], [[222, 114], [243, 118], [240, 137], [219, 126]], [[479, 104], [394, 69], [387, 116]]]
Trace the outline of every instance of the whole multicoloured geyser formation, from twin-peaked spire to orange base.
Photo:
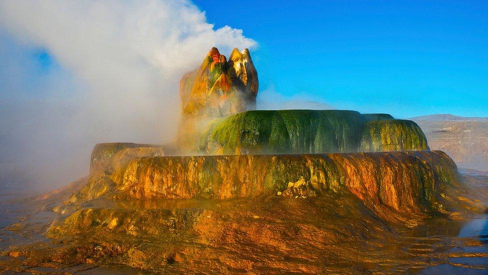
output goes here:
[[227, 61], [212, 48], [180, 82], [179, 151], [97, 144], [89, 176], [53, 192], [65, 200], [47, 231], [58, 246], [9, 253], [28, 266], [122, 263], [167, 273], [362, 273], [371, 263], [401, 272], [425, 264], [418, 253], [426, 249], [385, 245], [411, 239], [394, 230], [485, 210], [486, 188], [469, 194], [416, 123], [249, 110], [257, 89], [247, 49]]

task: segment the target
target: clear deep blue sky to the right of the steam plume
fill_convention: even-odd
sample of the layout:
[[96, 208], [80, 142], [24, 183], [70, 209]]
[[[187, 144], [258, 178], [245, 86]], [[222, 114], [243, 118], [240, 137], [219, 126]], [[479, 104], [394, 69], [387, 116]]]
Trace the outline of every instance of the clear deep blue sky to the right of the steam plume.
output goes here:
[[197, 0], [242, 29], [260, 91], [396, 117], [488, 116], [488, 1]]

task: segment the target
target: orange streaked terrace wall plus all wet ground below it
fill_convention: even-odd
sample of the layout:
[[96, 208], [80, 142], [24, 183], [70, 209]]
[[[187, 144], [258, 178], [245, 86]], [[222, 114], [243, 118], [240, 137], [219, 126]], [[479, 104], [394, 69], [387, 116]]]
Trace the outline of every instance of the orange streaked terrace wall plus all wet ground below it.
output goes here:
[[10, 202], [27, 213], [1, 231], [1, 269], [488, 268], [488, 176], [459, 175], [439, 151], [187, 157], [133, 156], [159, 152], [147, 146], [109, 151], [88, 177]]

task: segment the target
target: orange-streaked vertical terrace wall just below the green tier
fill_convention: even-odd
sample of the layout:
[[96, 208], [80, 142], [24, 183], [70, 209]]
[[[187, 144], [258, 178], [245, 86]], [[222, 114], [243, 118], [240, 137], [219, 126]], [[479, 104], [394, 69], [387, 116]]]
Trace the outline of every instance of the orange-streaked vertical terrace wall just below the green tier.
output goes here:
[[228, 199], [282, 192], [298, 197], [348, 190], [369, 209], [411, 216], [443, 212], [441, 194], [458, 183], [440, 151], [316, 155], [135, 157], [105, 171], [71, 201]]

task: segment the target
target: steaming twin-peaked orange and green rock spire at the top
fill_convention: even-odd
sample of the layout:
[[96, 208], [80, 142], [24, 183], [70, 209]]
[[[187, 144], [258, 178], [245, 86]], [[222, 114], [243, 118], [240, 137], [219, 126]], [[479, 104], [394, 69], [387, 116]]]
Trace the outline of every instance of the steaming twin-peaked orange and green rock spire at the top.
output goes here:
[[200, 127], [209, 120], [253, 109], [257, 89], [257, 71], [247, 49], [234, 49], [227, 61], [212, 48], [202, 65], [180, 81], [180, 147], [194, 149]]

